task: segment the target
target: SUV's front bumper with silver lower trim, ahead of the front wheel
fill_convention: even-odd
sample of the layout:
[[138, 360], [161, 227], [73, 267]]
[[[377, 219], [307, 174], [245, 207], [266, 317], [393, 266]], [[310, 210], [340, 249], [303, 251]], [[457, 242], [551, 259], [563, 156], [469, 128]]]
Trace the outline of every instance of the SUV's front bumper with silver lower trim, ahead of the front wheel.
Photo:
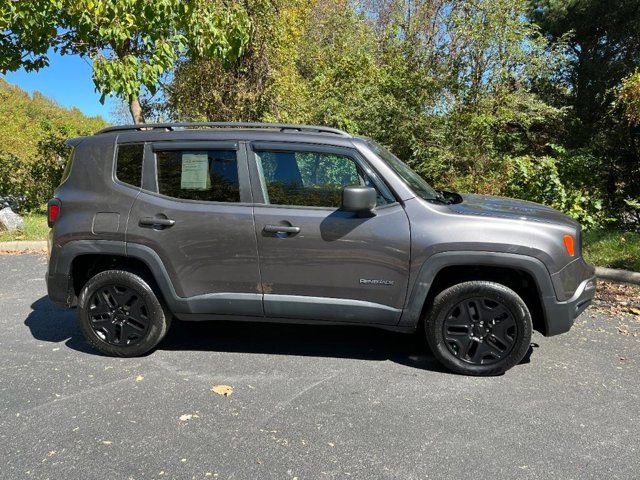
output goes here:
[[566, 301], [556, 297], [543, 298], [546, 331], [545, 336], [568, 332], [573, 322], [591, 304], [596, 293], [596, 277], [589, 277], [578, 285], [575, 293]]

